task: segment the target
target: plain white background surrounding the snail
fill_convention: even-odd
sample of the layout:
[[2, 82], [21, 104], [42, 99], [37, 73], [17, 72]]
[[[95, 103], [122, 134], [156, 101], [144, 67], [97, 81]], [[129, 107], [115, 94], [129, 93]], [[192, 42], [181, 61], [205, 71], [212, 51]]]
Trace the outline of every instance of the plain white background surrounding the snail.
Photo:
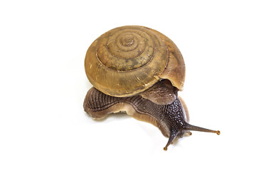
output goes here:
[[[1, 1], [0, 169], [255, 169], [253, 1]], [[183, 54], [193, 132], [168, 139], [82, 102], [87, 48], [118, 26], [154, 28]]]

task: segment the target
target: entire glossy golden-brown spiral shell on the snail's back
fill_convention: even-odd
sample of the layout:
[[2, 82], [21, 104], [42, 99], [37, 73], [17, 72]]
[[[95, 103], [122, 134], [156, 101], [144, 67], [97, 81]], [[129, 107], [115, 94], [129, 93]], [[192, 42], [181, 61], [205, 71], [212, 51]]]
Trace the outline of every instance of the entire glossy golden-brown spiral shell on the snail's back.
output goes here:
[[114, 28], [92, 42], [85, 72], [104, 94], [139, 94], [161, 79], [183, 89], [185, 64], [178, 47], [165, 35], [143, 26]]

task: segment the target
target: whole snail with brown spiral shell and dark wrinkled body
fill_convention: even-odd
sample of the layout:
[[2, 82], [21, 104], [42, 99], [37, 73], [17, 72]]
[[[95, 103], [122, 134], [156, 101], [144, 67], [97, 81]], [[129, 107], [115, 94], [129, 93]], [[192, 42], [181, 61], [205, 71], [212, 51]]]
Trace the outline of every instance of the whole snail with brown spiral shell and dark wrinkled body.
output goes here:
[[92, 118], [126, 112], [156, 125], [169, 141], [190, 130], [214, 132], [188, 123], [183, 89], [185, 64], [165, 35], [143, 26], [123, 26], [101, 35], [87, 50], [85, 72], [92, 87], [84, 109]]

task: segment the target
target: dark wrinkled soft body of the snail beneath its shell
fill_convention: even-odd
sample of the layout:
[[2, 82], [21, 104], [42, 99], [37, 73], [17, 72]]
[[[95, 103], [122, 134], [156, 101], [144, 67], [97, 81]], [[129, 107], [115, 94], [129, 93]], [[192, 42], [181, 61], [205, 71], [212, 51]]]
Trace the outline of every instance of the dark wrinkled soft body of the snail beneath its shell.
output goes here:
[[[169, 85], [167, 82], [167, 86]], [[149, 98], [151, 100], [143, 98], [143, 94], [120, 98], [108, 96], [92, 87], [85, 97], [84, 109], [92, 118], [100, 119], [105, 118], [110, 113], [126, 112], [134, 118], [152, 123], [161, 130], [164, 136], [169, 137], [169, 142], [164, 147], [164, 149], [167, 149], [176, 137], [183, 137], [186, 132], [191, 134], [189, 130], [206, 131], [204, 128], [199, 128], [186, 122], [188, 116], [183, 109], [181, 100], [178, 98], [177, 91], [173, 86], [169, 87], [172, 89], [169, 90], [169, 93], [163, 96], [152, 95], [153, 97]], [[149, 91], [150, 94], [156, 94], [165, 88], [166, 83], [160, 81]], [[146, 93], [149, 91], [146, 91]], [[164, 105], [153, 102], [161, 101], [161, 99], [167, 99], [167, 101], [172, 102], [167, 102]], [[161, 103], [163, 102], [161, 101]]]

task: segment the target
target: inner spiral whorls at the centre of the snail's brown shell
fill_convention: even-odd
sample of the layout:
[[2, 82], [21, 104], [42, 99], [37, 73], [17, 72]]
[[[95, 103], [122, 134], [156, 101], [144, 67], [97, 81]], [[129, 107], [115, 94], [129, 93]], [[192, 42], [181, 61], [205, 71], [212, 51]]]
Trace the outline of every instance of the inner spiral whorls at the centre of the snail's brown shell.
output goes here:
[[121, 29], [97, 45], [97, 57], [106, 67], [128, 71], [149, 63], [156, 51], [156, 42], [149, 33], [138, 29]]

